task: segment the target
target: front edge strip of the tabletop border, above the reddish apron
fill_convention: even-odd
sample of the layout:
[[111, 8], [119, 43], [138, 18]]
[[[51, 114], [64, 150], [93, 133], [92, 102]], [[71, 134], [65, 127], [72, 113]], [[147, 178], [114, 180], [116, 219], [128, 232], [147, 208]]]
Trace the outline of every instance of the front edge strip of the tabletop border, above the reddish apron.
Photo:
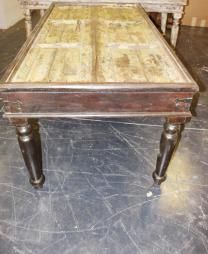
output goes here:
[[[122, 84], [122, 85], [121, 85]], [[141, 92], [197, 92], [192, 83], [6, 83], [2, 92], [11, 91], [141, 91]]]

